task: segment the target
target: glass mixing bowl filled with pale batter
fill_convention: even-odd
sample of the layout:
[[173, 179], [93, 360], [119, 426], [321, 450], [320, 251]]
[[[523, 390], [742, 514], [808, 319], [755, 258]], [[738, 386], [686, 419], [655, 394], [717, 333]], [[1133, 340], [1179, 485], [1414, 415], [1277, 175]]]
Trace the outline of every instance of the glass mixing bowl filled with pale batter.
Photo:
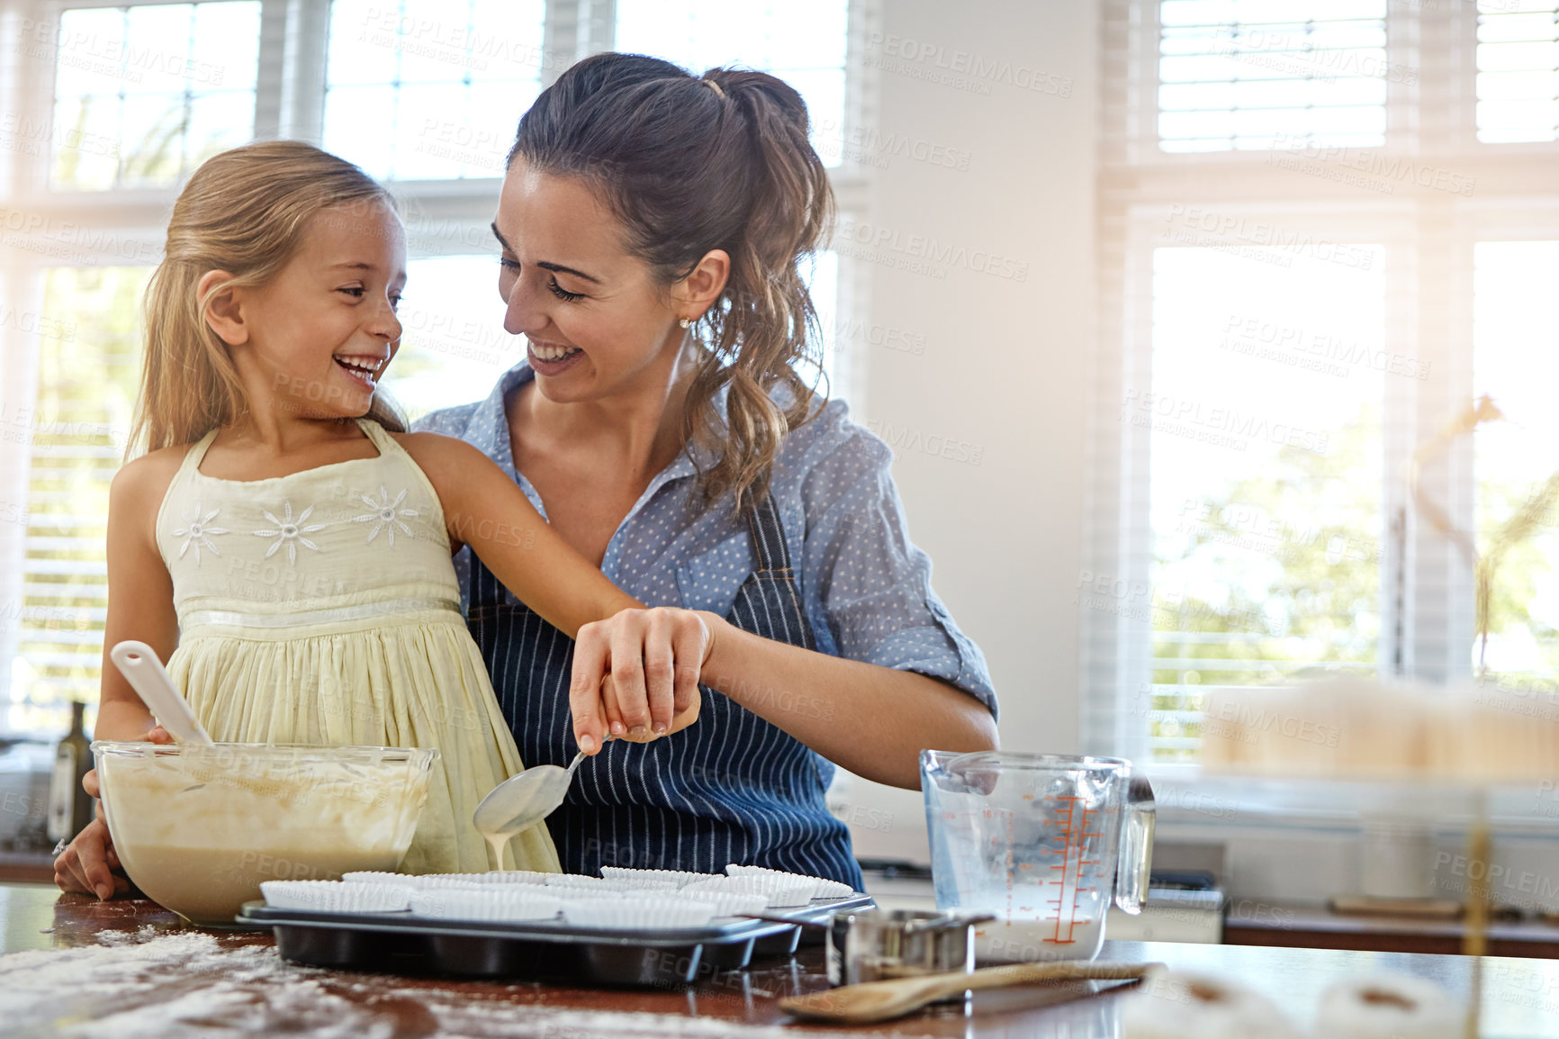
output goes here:
[[118, 861], [195, 924], [232, 924], [262, 880], [401, 864], [438, 750], [92, 744]]

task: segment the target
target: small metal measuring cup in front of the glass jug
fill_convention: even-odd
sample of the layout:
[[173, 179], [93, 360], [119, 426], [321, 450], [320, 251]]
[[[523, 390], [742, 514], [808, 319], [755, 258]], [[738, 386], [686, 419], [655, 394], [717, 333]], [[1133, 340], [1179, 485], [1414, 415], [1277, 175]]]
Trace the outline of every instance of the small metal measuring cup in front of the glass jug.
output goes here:
[[974, 925], [990, 914], [856, 910], [828, 920], [828, 981], [857, 984], [974, 969]]

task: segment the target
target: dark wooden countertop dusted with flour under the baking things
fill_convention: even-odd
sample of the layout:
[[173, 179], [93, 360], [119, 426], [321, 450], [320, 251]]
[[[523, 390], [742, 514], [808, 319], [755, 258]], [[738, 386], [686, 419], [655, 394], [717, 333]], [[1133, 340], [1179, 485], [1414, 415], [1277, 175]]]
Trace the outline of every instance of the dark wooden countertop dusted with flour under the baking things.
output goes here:
[[[140, 947], [157, 942], [154, 947]], [[156, 956], [145, 953], [156, 950]], [[31, 952], [36, 950], [36, 952]], [[150, 902], [100, 903], [53, 888], [0, 886], [0, 959], [8, 1034], [117, 1039], [207, 1036], [1066, 1036], [1113, 1037], [1118, 995], [1043, 1006], [1043, 992], [976, 997], [970, 1016], [937, 1006], [876, 1028], [787, 1025], [776, 1000], [828, 988], [818, 949], [717, 975], [688, 989], [591, 989], [536, 981], [412, 978], [299, 967], [268, 933], [201, 931]], [[1481, 975], [1483, 1034], [1559, 1034], [1559, 963], [1260, 945], [1107, 942], [1110, 959], [1207, 970], [1272, 997], [1302, 1028], [1328, 984], [1366, 970], [1431, 978], [1467, 998]], [[17, 1031], [19, 1030], [19, 1031]]]

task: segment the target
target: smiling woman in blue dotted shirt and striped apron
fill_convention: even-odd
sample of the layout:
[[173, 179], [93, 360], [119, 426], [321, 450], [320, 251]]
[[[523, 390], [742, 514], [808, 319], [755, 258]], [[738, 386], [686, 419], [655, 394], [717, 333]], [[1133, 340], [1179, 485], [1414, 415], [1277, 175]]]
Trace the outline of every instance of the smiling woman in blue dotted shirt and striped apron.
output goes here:
[[[996, 744], [984, 657], [931, 590], [889, 448], [797, 373], [817, 367], [800, 264], [831, 214], [806, 108], [764, 73], [597, 55], [519, 123], [493, 229], [527, 360], [418, 427], [485, 451], [617, 585], [680, 607], [588, 626], [574, 660], [457, 559], [522, 758], [596, 757], [547, 821], [569, 872], [739, 861], [859, 888], [831, 763], [914, 788], [921, 747]], [[691, 700], [653, 658], [603, 700], [611, 658], [700, 621], [697, 722], [602, 746]]]

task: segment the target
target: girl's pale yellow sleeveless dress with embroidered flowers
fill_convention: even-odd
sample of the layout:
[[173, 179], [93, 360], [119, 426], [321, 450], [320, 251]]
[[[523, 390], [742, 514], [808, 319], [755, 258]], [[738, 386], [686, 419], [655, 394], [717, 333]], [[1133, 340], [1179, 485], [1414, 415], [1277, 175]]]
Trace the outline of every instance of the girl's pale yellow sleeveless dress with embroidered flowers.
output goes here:
[[[522, 771], [477, 644], [438, 495], [376, 421], [379, 457], [263, 480], [200, 471], [193, 445], [157, 512], [179, 647], [168, 672], [212, 739], [438, 747], [404, 872], [493, 866], [477, 802]], [[502, 869], [558, 869], [546, 825]]]

